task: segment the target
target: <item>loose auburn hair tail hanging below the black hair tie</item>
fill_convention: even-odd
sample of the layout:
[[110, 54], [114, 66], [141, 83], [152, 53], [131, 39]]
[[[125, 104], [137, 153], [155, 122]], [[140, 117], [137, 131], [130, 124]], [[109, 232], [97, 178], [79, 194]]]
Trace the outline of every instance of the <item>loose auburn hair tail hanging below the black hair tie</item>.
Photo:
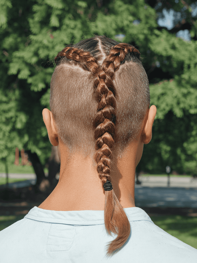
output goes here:
[[131, 233], [127, 215], [113, 190], [105, 192], [104, 221], [107, 233], [117, 234], [117, 237], [106, 246], [106, 255], [112, 256], [121, 249]]

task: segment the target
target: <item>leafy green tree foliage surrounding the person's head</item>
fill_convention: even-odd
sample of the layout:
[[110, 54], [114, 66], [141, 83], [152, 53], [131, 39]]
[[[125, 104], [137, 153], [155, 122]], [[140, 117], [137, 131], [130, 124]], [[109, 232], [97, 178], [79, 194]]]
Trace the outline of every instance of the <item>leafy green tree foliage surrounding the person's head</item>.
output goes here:
[[[151, 104], [158, 110], [152, 142], [144, 147], [138, 169], [163, 172], [170, 165], [180, 173], [195, 173], [197, 23], [192, 15], [194, 6], [194, 1], [183, 0], [172, 3], [0, 0], [0, 92], [3, 103], [7, 103], [5, 110], [3, 106], [1, 110], [2, 116], [6, 116], [9, 108], [13, 114], [7, 119], [9, 129], [3, 122], [6, 117], [2, 117], [1, 126], [8, 131], [1, 156], [8, 154], [5, 145], [13, 131], [17, 138], [10, 142], [13, 148], [18, 141], [19, 148], [35, 151], [43, 163], [49, 157], [50, 143], [42, 109], [49, 108], [53, 59], [65, 45], [98, 34], [135, 45], [148, 74]], [[174, 26], [170, 30], [157, 23], [164, 8], [174, 10]], [[189, 30], [191, 41], [176, 37], [184, 29]]]

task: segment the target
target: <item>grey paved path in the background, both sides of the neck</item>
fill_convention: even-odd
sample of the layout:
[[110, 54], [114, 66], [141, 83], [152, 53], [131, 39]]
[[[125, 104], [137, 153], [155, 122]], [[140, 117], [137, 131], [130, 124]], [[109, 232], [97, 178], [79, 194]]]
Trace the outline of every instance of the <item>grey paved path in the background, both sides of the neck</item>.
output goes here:
[[[6, 177], [0, 174], [0, 177]], [[9, 174], [9, 178], [26, 178], [9, 187], [25, 187], [36, 183], [35, 174]], [[167, 187], [167, 177], [139, 176], [141, 185], [135, 185], [135, 205], [138, 207], [197, 208], [197, 179], [191, 177], [171, 177]], [[0, 190], [4, 186], [0, 185]]]

